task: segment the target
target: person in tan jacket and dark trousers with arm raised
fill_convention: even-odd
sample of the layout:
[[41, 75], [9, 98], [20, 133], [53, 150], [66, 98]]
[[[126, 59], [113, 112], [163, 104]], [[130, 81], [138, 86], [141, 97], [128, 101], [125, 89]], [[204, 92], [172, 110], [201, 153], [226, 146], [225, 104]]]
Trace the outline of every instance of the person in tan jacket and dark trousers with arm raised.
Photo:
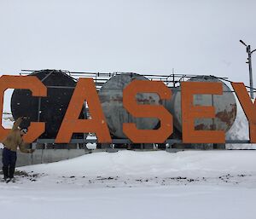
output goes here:
[[22, 119], [18, 118], [13, 125], [9, 135], [3, 140], [3, 179], [10, 181], [15, 175], [15, 164], [17, 159], [17, 147], [20, 147], [22, 153], [33, 153], [33, 149], [26, 149], [26, 143], [22, 136], [26, 134], [26, 129], [20, 130], [19, 125]]

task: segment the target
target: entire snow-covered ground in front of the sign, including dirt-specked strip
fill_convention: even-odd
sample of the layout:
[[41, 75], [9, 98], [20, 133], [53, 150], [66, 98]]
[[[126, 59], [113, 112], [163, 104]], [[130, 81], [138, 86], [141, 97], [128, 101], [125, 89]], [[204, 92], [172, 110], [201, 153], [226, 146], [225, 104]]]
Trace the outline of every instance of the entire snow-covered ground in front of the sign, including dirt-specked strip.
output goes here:
[[[1, 218], [255, 218], [255, 151], [91, 153], [0, 183]], [[22, 172], [21, 172], [22, 171]]]

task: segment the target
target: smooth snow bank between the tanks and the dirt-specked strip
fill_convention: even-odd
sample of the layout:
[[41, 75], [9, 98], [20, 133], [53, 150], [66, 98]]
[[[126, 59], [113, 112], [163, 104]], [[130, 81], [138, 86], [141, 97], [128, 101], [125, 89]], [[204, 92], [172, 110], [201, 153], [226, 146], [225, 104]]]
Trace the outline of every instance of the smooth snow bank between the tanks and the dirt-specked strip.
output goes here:
[[256, 151], [185, 151], [179, 153], [119, 151], [91, 153], [54, 164], [20, 167], [49, 176], [220, 176], [256, 173]]

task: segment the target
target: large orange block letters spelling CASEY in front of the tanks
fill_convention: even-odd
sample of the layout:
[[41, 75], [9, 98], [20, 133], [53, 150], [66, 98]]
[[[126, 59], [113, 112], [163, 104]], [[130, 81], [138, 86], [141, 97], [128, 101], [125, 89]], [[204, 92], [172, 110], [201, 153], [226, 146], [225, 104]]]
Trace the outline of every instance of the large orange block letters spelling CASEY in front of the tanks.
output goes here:
[[[252, 102], [245, 85], [232, 83], [241, 107], [247, 116], [250, 129], [250, 142], [256, 143], [256, 103]], [[30, 89], [32, 95], [47, 96], [47, 88], [34, 76], [2, 76], [0, 78], [0, 141], [8, 135], [9, 130], [2, 126], [3, 95], [6, 89]], [[221, 83], [209, 82], [182, 82], [182, 120], [183, 143], [224, 143], [224, 131], [222, 130], [195, 130], [195, 118], [213, 118], [214, 107], [193, 105], [193, 95], [222, 95]], [[156, 93], [160, 100], [168, 100], [172, 92], [160, 81], [134, 80], [126, 86], [123, 92], [123, 105], [127, 112], [138, 118], [158, 118], [160, 127], [157, 130], [138, 130], [136, 124], [123, 124], [125, 135], [134, 143], [163, 143], [172, 135], [172, 114], [162, 105], [137, 104], [137, 93]], [[90, 119], [79, 119], [79, 113], [87, 101], [90, 109]], [[45, 121], [47, 122], [47, 121]], [[42, 122], [32, 122], [25, 141], [33, 142], [42, 135], [45, 125]], [[73, 133], [96, 133], [97, 141], [101, 143], [112, 142], [108, 130], [106, 118], [102, 112], [96, 87], [92, 78], [79, 78], [74, 89], [72, 99], [63, 118], [61, 128], [56, 136], [55, 143], [68, 143]]]

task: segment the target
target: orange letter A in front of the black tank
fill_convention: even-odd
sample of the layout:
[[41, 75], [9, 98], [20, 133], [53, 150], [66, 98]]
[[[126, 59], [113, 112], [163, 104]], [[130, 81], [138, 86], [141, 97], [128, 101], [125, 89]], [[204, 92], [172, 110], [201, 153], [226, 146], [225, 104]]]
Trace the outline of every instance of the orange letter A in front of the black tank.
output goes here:
[[[79, 119], [79, 114], [87, 101], [91, 119]], [[96, 133], [98, 142], [111, 142], [108, 125], [102, 112], [92, 78], [79, 78], [73, 96], [63, 118], [55, 143], [68, 143], [73, 133]]]

